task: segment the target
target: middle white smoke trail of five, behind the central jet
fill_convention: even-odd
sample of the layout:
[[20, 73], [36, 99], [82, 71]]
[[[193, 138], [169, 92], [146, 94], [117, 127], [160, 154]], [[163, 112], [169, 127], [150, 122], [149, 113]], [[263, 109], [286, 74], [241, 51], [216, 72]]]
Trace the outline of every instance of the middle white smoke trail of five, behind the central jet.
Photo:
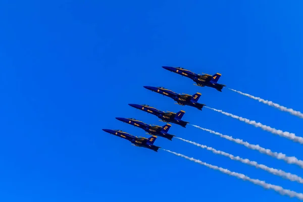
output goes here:
[[268, 148], [264, 148], [264, 147], [262, 147], [258, 144], [250, 144], [248, 142], [243, 141], [242, 139], [238, 139], [238, 138], [235, 139], [232, 136], [223, 135], [221, 133], [218, 133], [218, 132], [210, 130], [210, 129], [202, 128], [202, 127], [196, 126], [196, 125], [192, 125], [192, 126], [194, 126], [196, 128], [199, 128], [201, 130], [204, 130], [204, 131], [208, 131], [208, 132], [213, 133], [215, 135], [219, 135], [220, 137], [223, 137], [223, 138], [228, 139], [230, 141], [236, 142], [238, 144], [242, 144], [242, 145], [246, 146], [247, 148], [258, 150], [262, 154], [266, 154], [266, 155], [274, 157], [276, 159], [283, 160], [283, 161], [287, 162], [288, 164], [296, 164], [296, 165], [300, 166], [301, 168], [303, 168], [303, 161], [298, 160], [295, 157], [287, 157], [283, 153], [277, 153], [277, 152], [274, 152], [274, 151], [272, 151]]

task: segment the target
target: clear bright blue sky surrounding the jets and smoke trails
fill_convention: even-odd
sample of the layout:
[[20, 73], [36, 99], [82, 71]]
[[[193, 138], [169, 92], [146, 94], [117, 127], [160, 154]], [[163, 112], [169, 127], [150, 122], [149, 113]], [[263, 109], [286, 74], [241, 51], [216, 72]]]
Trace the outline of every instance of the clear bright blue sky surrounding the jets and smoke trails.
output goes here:
[[[2, 1], [0, 3], [0, 200], [295, 201], [163, 150], [102, 131], [148, 137], [115, 117], [160, 124], [127, 104], [185, 110], [185, 121], [303, 159], [277, 135], [204, 109], [174, 105], [143, 85], [201, 92], [200, 102], [303, 135], [302, 120], [229, 89], [161, 66], [222, 74], [220, 83], [303, 111], [301, 1]], [[303, 176], [287, 165], [192, 126], [176, 136]], [[163, 148], [302, 192], [303, 185], [181, 140]]]

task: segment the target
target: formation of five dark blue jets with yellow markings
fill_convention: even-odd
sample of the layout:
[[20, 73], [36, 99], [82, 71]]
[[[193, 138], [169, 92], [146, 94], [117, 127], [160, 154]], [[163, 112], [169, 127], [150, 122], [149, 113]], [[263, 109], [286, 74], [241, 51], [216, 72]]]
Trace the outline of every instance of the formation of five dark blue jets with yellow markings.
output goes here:
[[[213, 76], [209, 74], [203, 73], [203, 75], [196, 74], [194, 72], [191, 72], [189, 70], [186, 70], [182, 67], [168, 67], [168, 66], [163, 66], [162, 68], [170, 71], [170, 72], [175, 72], [177, 74], [180, 74], [182, 76], [185, 76], [187, 78], [190, 78], [195, 82], [194, 85], [197, 86], [208, 86], [211, 88], [215, 88], [216, 90], [222, 92], [223, 87], [226, 85], [218, 83], [219, 78], [221, 77], [220, 73], [216, 73]], [[202, 110], [205, 104], [198, 103], [198, 99], [201, 96], [201, 93], [196, 92], [193, 95], [190, 94], [185, 94], [185, 93], [176, 93], [172, 90], [166, 89], [164, 87], [154, 87], [154, 86], [143, 86], [144, 88], [157, 92], [159, 94], [162, 94], [164, 96], [172, 98], [177, 104], [181, 106], [189, 106], [196, 108], [198, 110]], [[116, 117], [117, 120], [122, 121], [124, 123], [128, 123], [130, 125], [133, 125], [135, 127], [143, 129], [146, 134], [151, 135], [149, 138], [145, 137], [137, 137], [134, 135], [131, 135], [127, 132], [124, 132], [122, 130], [112, 130], [112, 129], [103, 129], [103, 131], [108, 132], [110, 134], [116, 135], [118, 137], [121, 137], [123, 139], [127, 139], [132, 143], [132, 145], [138, 146], [138, 147], [144, 147], [148, 148], [154, 151], [158, 152], [158, 149], [161, 148], [160, 146], [154, 145], [157, 136], [166, 138], [168, 140], [172, 140], [175, 135], [169, 134], [168, 131], [171, 128], [171, 124], [176, 124], [182, 127], [186, 127], [189, 122], [182, 120], [185, 111], [181, 110], [177, 113], [174, 112], [169, 112], [169, 111], [161, 111], [158, 110], [154, 107], [150, 107], [148, 105], [139, 105], [139, 104], [128, 104], [129, 106], [141, 110], [143, 112], [147, 112], [148, 114], [153, 114], [157, 116], [160, 121], [165, 122], [166, 124], [164, 126], [158, 126], [158, 125], [150, 125], [146, 124], [142, 121], [136, 120], [134, 118], [121, 118], [121, 117]], [[171, 123], [171, 124], [170, 124]]]

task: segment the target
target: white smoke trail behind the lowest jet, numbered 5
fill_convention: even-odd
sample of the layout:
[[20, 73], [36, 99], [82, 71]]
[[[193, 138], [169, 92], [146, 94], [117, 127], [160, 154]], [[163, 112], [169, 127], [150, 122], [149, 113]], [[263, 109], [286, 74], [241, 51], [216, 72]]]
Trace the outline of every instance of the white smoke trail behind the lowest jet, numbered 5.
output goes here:
[[303, 193], [297, 193], [295, 191], [284, 189], [281, 186], [269, 184], [269, 183], [266, 183], [265, 181], [261, 181], [261, 180], [258, 180], [258, 179], [251, 179], [250, 177], [248, 177], [248, 176], [246, 176], [244, 174], [232, 172], [230, 170], [227, 170], [227, 169], [224, 169], [224, 168], [221, 168], [221, 167], [218, 167], [218, 166], [213, 166], [211, 164], [202, 162], [200, 160], [197, 160], [197, 159], [194, 159], [194, 158], [190, 158], [190, 157], [187, 157], [187, 156], [182, 155], [182, 154], [175, 153], [174, 151], [170, 151], [170, 150], [166, 150], [166, 149], [163, 149], [163, 150], [168, 151], [169, 153], [172, 153], [172, 154], [174, 154], [176, 156], [183, 157], [185, 159], [193, 161], [195, 163], [207, 166], [207, 167], [209, 167], [211, 169], [218, 170], [218, 171], [220, 171], [222, 173], [225, 173], [225, 174], [228, 174], [230, 176], [237, 177], [237, 178], [242, 179], [244, 181], [247, 180], [247, 181], [252, 182], [254, 184], [260, 185], [260, 186], [262, 186], [265, 189], [273, 189], [273, 190], [279, 192], [281, 195], [288, 195], [290, 197], [297, 197], [298, 199], [303, 200]]

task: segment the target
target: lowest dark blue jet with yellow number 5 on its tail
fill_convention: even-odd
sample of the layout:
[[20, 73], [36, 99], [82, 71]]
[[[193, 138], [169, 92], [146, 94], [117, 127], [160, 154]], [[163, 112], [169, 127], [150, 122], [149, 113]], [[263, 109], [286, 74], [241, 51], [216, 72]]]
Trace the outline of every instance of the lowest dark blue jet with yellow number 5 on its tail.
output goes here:
[[133, 136], [127, 132], [123, 132], [122, 130], [111, 130], [111, 129], [102, 129], [102, 130], [105, 132], [108, 132], [110, 134], [116, 135], [118, 137], [127, 139], [134, 146], [149, 148], [149, 149], [157, 151], [157, 152], [158, 152], [158, 149], [161, 148], [160, 146], [154, 145], [154, 142], [157, 139], [157, 136], [154, 136], [154, 135], [149, 138], [145, 138], [145, 137]]

